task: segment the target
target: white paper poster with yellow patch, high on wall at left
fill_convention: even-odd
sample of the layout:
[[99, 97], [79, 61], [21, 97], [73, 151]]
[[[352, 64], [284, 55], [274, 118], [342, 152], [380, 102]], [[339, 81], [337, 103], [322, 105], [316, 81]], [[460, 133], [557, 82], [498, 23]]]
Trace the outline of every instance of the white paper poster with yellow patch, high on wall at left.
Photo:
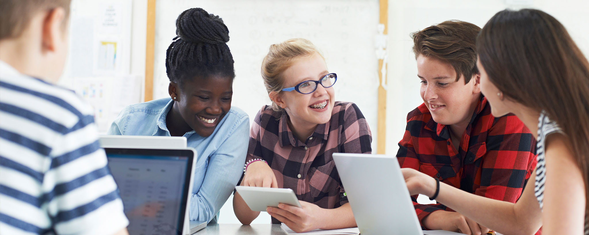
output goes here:
[[71, 51], [65, 74], [71, 78], [130, 72], [131, 1], [72, 1]]

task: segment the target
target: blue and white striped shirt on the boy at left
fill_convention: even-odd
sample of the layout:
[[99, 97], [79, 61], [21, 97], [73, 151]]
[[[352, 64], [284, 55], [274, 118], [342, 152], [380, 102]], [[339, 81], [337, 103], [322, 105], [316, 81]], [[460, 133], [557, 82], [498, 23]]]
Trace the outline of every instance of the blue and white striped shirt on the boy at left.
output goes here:
[[97, 139], [92, 109], [74, 92], [0, 61], [0, 234], [127, 227]]

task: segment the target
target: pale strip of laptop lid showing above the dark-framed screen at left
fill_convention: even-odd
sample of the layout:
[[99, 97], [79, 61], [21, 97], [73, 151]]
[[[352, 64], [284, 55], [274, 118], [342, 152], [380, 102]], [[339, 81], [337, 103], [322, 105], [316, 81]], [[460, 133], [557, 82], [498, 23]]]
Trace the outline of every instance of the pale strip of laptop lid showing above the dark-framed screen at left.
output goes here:
[[98, 138], [101, 147], [137, 148], [137, 149], [178, 149], [186, 147], [184, 136], [122, 136], [101, 135]]

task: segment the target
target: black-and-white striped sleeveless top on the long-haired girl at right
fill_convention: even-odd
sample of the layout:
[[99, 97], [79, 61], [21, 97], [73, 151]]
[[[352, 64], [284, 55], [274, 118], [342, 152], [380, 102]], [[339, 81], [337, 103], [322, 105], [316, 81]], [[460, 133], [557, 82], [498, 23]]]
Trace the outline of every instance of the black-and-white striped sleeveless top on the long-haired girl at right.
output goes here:
[[[546, 182], [544, 142], [546, 140], [546, 136], [556, 132], [562, 133], [562, 130], [560, 129], [560, 127], [558, 127], [556, 122], [550, 120], [548, 116], [546, 116], [544, 111], [542, 111], [542, 113], [540, 113], [540, 118], [538, 119], [538, 136], [536, 139], [536, 153], [538, 164], [536, 164], [536, 182], [534, 185], [534, 194], [536, 196], [536, 199], [538, 199], [540, 209], [542, 209], [542, 206], [544, 206], [544, 183]], [[589, 235], [589, 217], [587, 216], [587, 214], [585, 215], [585, 235]]]

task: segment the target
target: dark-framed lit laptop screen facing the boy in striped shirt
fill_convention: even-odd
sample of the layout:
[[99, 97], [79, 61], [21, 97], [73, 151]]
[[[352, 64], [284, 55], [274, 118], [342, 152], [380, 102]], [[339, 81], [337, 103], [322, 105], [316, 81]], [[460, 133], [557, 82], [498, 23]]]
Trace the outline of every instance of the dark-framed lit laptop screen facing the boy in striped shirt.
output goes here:
[[129, 234], [190, 234], [194, 149], [105, 148]]

